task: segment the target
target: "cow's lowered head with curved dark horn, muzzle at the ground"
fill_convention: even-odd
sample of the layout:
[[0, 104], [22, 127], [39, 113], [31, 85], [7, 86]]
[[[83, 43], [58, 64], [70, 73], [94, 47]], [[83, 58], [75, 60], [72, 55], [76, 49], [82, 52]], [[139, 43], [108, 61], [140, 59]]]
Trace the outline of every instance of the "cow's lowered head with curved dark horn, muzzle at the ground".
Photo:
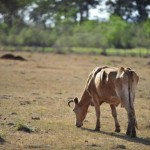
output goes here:
[[76, 122], [75, 122], [75, 125], [77, 127], [81, 127], [83, 125], [83, 120], [86, 116], [86, 114], [84, 114], [84, 110], [80, 107], [79, 105], [79, 101], [78, 101], [78, 98], [76, 97], [74, 100], [70, 100], [68, 102], [68, 105], [70, 107], [70, 103], [73, 102], [74, 103], [74, 108], [73, 108], [73, 111], [76, 115]]

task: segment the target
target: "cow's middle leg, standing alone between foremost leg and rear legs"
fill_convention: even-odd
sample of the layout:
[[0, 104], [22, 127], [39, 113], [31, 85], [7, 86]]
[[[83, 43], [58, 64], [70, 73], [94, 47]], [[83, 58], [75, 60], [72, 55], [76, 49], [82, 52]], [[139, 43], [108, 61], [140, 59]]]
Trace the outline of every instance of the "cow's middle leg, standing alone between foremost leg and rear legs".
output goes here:
[[112, 116], [114, 118], [115, 121], [115, 132], [120, 132], [120, 125], [117, 119], [117, 111], [116, 111], [116, 107], [114, 105], [110, 105], [111, 107], [111, 112], [112, 112]]

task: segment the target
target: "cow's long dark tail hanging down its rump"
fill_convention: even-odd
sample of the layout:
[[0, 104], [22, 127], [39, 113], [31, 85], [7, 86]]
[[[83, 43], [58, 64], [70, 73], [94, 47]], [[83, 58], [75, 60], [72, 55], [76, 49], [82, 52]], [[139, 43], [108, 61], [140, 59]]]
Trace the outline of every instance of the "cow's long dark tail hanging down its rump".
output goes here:
[[131, 115], [133, 116], [133, 123], [135, 127], [138, 129], [138, 124], [136, 121], [136, 115], [135, 115], [135, 109], [134, 109], [134, 95], [131, 96], [131, 94], [133, 94], [132, 86], [134, 82], [133, 71], [128, 70], [127, 74], [128, 74], [129, 108], [130, 108], [129, 110], [130, 110]]

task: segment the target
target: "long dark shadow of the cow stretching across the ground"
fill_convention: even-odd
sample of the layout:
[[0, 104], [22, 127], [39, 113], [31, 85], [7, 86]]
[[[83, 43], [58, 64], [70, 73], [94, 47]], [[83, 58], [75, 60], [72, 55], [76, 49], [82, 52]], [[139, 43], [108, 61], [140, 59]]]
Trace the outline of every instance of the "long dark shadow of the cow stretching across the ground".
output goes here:
[[141, 143], [144, 145], [150, 145], [150, 138], [142, 138], [142, 137], [136, 137], [136, 138], [130, 138], [129, 136], [126, 136], [126, 134], [123, 133], [116, 133], [116, 132], [106, 132], [106, 131], [94, 131], [92, 129], [81, 127], [82, 130], [86, 130], [89, 132], [96, 132], [100, 134], [105, 134], [109, 136], [113, 136], [119, 139], [123, 139], [126, 141], [134, 142], [134, 143]]

